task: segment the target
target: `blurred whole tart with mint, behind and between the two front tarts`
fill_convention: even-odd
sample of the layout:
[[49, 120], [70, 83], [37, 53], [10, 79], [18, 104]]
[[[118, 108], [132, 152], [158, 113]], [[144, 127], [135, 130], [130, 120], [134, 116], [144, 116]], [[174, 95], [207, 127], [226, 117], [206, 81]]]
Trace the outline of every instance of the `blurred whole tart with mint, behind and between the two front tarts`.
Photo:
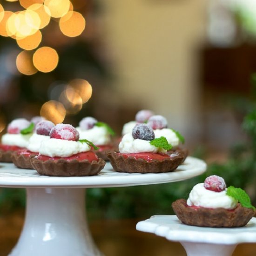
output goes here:
[[91, 141], [98, 149], [96, 155], [108, 161], [106, 152], [113, 149], [112, 136], [115, 132], [104, 122], [97, 121], [94, 117], [85, 117], [79, 122], [76, 128], [80, 134], [80, 139]]

